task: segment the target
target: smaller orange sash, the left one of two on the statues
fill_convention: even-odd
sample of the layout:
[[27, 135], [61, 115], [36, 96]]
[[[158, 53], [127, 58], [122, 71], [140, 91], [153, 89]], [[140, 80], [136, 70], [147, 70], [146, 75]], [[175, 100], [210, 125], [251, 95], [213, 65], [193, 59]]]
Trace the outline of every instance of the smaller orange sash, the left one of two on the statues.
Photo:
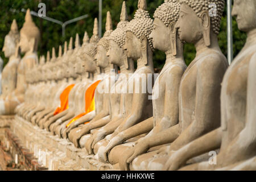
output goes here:
[[67, 86], [67, 88], [65, 88], [63, 92], [60, 94], [60, 107], [57, 107], [57, 109], [54, 112], [54, 115], [57, 115], [62, 111], [68, 109], [68, 94], [70, 93], [70, 91], [74, 86], [75, 84]]

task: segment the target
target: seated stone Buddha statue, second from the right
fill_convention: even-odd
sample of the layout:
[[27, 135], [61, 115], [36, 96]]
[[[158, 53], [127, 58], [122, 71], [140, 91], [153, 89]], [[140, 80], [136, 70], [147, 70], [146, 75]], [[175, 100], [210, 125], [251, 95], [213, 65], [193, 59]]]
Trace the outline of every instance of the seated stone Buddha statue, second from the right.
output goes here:
[[[173, 135], [170, 146], [148, 152], [139, 157], [140, 160], [135, 158], [130, 169], [161, 170], [164, 164], [168, 166], [167, 160], [174, 151], [220, 126], [221, 81], [228, 61], [218, 46], [217, 35], [225, 1], [185, 0], [180, 3], [175, 27], [181, 41], [195, 45], [196, 57], [180, 82], [179, 127], [170, 128]], [[209, 16], [210, 3], [216, 3], [217, 16]], [[168, 168], [166, 166], [164, 169]]]

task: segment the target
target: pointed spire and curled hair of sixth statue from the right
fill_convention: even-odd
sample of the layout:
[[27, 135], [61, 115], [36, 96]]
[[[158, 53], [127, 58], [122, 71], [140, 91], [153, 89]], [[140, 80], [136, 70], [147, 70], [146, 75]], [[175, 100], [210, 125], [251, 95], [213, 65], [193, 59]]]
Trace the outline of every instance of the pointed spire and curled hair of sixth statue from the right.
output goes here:
[[112, 19], [111, 19], [110, 12], [108, 11], [107, 18], [106, 18], [106, 32], [98, 42], [98, 46], [104, 47], [106, 51], [109, 51], [109, 35], [112, 32], [113, 32]]

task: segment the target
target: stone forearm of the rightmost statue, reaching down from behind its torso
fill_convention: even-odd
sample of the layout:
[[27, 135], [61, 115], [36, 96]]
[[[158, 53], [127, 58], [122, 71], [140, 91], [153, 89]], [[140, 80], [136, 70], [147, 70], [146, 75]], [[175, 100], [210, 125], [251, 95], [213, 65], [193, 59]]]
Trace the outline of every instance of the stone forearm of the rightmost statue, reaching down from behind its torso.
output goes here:
[[[189, 159], [216, 150], [221, 146], [222, 130], [218, 128], [203, 137], [193, 140], [179, 150], [170, 153], [163, 170], [174, 171], [182, 167]], [[202, 144], [203, 143], [203, 144]]]

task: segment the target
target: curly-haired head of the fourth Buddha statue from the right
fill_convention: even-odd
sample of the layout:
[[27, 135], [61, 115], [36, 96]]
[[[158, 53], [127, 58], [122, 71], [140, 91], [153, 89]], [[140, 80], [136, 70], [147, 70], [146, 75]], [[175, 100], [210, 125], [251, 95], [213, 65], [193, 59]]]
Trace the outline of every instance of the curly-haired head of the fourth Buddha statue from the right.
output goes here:
[[138, 10], [126, 27], [126, 43], [125, 50], [127, 56], [133, 60], [141, 60], [143, 64], [147, 65], [147, 56], [152, 56], [154, 51], [152, 39], [150, 34], [153, 30], [153, 20], [148, 14], [146, 0], [139, 0]]

